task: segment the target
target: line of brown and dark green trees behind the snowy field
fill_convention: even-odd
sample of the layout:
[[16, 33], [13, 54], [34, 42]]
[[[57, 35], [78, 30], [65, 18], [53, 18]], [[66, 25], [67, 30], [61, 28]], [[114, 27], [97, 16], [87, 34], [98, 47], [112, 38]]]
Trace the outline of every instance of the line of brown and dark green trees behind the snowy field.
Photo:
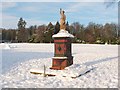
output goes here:
[[[60, 30], [57, 21], [55, 25], [33, 25], [26, 28], [27, 22], [22, 18], [18, 21], [18, 29], [2, 29], [2, 42], [53, 43], [52, 35]], [[73, 34], [74, 43], [90, 44], [120, 44], [120, 26], [115, 23], [105, 25], [90, 22], [87, 26], [74, 22], [66, 23], [66, 30]]]

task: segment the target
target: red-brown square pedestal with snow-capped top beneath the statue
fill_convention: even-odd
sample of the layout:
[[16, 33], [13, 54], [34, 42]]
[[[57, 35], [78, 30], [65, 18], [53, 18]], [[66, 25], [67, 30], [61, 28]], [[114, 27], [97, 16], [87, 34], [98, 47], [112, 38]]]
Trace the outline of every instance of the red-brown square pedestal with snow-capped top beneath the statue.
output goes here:
[[59, 33], [52, 36], [54, 38], [54, 57], [52, 58], [52, 67], [50, 69], [62, 70], [73, 64], [71, 52], [71, 42], [73, 35], [66, 30], [60, 30]]

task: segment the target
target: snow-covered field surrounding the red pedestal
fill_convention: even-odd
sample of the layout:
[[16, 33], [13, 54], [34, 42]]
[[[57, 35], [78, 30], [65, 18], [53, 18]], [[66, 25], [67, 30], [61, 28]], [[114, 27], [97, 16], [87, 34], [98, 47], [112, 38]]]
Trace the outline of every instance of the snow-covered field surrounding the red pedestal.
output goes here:
[[67, 69], [74, 74], [74, 71], [85, 66], [92, 68], [89, 73], [77, 78], [71, 78], [69, 74], [68, 77], [62, 77], [61, 74], [43, 77], [30, 73], [33, 68], [43, 70], [44, 65], [47, 69], [51, 67], [53, 44], [0, 44], [0, 51], [0, 83], [3, 88], [118, 87], [118, 45], [72, 44], [74, 64]]

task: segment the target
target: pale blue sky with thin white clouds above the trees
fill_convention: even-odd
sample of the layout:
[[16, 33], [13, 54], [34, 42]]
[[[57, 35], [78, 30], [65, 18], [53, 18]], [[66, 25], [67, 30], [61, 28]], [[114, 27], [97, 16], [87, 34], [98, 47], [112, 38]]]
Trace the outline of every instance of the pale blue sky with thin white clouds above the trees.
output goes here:
[[103, 2], [3, 2], [0, 27], [17, 28], [20, 17], [27, 22], [27, 27], [49, 22], [55, 24], [60, 19], [60, 8], [65, 10], [69, 24], [79, 22], [86, 26], [89, 22], [118, 22], [118, 3], [106, 8]]

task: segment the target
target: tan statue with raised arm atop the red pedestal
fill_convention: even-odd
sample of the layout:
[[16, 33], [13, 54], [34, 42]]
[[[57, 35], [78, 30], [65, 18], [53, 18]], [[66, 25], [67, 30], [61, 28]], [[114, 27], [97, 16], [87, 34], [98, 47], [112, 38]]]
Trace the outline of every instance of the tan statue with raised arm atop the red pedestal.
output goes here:
[[65, 16], [64, 13], [65, 13], [65, 11], [63, 11], [60, 8], [60, 15], [61, 15], [61, 18], [60, 18], [60, 30], [65, 30], [66, 29], [66, 23], [65, 23], [66, 16]]

